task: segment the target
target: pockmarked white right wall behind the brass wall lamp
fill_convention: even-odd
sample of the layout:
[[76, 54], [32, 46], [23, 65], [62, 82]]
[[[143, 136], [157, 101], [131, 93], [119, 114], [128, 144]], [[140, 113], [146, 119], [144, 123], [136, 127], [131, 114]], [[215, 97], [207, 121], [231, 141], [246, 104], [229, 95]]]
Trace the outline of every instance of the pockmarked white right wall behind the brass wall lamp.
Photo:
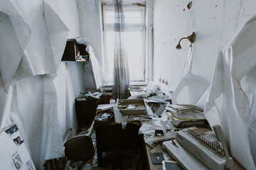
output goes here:
[[196, 33], [191, 55], [191, 73], [210, 83], [218, 52], [236, 31], [256, 14], [256, 1], [154, 1], [154, 81], [164, 79], [167, 88], [176, 89], [189, 54], [188, 40], [178, 40]]

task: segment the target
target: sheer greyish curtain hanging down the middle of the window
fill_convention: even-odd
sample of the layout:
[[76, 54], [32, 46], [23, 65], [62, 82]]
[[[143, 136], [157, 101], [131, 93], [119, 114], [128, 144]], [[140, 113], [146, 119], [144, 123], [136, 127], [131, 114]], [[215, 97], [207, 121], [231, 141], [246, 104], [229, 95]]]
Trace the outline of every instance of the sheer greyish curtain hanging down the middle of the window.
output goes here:
[[113, 98], [129, 97], [129, 67], [127, 59], [126, 40], [124, 32], [124, 6], [122, 0], [113, 0], [114, 4], [114, 77], [113, 77]]

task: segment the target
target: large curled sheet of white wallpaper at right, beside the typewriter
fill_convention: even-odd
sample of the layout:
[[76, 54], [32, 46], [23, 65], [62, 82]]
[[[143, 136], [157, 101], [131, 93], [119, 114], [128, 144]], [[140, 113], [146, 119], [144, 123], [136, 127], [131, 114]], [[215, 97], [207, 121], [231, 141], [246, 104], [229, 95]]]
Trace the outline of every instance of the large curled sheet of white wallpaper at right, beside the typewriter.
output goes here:
[[208, 122], [221, 125], [232, 156], [245, 169], [255, 169], [256, 159], [255, 74], [252, 76], [256, 67], [255, 28], [253, 17], [219, 52], [205, 106]]

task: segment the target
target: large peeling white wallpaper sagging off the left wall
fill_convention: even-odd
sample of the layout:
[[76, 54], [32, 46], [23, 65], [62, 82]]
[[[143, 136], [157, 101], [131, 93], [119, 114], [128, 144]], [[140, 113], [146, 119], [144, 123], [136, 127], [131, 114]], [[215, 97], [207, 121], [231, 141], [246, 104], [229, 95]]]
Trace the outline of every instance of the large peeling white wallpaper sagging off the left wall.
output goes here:
[[[22, 13], [24, 6], [31, 13]], [[46, 159], [64, 155], [57, 95], [47, 74], [57, 72], [68, 28], [45, 1], [3, 0], [0, 21], [0, 129], [15, 123], [36, 168], [43, 169]]]

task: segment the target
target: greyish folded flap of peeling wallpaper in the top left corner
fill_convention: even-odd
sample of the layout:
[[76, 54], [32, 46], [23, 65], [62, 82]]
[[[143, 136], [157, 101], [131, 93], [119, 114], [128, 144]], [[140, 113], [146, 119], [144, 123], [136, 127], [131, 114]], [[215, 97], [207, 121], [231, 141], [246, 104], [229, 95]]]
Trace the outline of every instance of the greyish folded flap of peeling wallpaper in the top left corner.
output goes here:
[[[9, 0], [1, 1], [0, 21], [1, 81], [6, 86], [6, 89], [8, 89], [18, 67], [21, 69], [23, 64], [28, 63], [26, 52], [24, 51], [31, 38], [31, 28], [21, 16], [16, 6]], [[30, 68], [29, 64], [26, 69], [28, 68]], [[28, 71], [28, 74], [31, 75], [31, 72]]]

